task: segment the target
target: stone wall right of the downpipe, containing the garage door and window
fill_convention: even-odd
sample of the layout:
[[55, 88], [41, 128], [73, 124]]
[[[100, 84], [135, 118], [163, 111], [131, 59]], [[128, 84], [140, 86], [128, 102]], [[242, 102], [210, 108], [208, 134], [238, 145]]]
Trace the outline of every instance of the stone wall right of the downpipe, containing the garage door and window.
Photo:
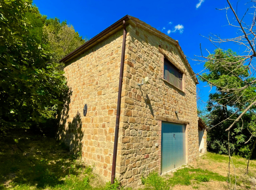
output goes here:
[[[162, 80], [163, 55], [158, 50], [159, 45], [185, 72], [182, 90]], [[142, 176], [159, 171], [161, 146], [155, 144], [160, 127], [156, 116], [173, 119], [178, 116], [180, 120], [189, 121], [186, 126], [187, 161], [199, 156], [196, 84], [177, 47], [147, 30], [127, 26], [126, 56], [116, 177], [124, 186], [137, 187]], [[137, 86], [146, 76], [148, 84]]]

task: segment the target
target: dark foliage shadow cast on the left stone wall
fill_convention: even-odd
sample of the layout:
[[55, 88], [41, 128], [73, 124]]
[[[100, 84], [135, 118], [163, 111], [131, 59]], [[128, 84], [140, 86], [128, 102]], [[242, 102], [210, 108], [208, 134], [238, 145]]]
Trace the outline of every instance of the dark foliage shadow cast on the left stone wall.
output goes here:
[[58, 114], [57, 138], [69, 146], [70, 151], [77, 155], [82, 151], [82, 120], [80, 113], [76, 113], [72, 120], [69, 118], [69, 105], [71, 103], [72, 89], [70, 88], [63, 96], [63, 108]]

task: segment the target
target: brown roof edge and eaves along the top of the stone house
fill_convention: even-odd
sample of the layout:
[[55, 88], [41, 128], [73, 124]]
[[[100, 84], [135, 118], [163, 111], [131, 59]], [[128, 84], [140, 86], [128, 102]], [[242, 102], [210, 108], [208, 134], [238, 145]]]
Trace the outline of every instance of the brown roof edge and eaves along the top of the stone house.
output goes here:
[[148, 25], [147, 23], [145, 23], [143, 21], [140, 21], [139, 19], [137, 19], [135, 17], [132, 17], [130, 15], [125, 15], [122, 19], [118, 20], [117, 22], [115, 22], [114, 24], [112, 24], [111, 26], [109, 26], [108, 28], [103, 30], [101, 33], [94, 36], [92, 39], [86, 41], [83, 45], [78, 47], [76, 50], [74, 50], [73, 52], [71, 52], [67, 56], [63, 57], [61, 60], [59, 60], [59, 62], [67, 62], [67, 61], [71, 60], [72, 58], [74, 58], [74, 57], [80, 55], [81, 53], [83, 53], [89, 47], [91, 47], [91, 46], [97, 44], [99, 41], [102, 41], [103, 39], [105, 39], [106, 35], [109, 36], [109, 35], [113, 34], [114, 32], [120, 30], [122, 28], [123, 21], [131, 21], [131, 22], [135, 23], [136, 25], [138, 25], [139, 27], [142, 27], [142, 28], [150, 31], [151, 33], [153, 33], [153, 34], [171, 42], [172, 44], [174, 44], [177, 47], [184, 63], [187, 65], [189, 72], [193, 75], [193, 78], [194, 78], [196, 84], [198, 84], [197, 77], [196, 77], [194, 71], [192, 70], [190, 64], [188, 63], [188, 61], [186, 59], [186, 56], [184, 55], [183, 51], [181, 50], [179, 42], [177, 40], [172, 39], [170, 36], [160, 32], [159, 30], [153, 28], [152, 26]]

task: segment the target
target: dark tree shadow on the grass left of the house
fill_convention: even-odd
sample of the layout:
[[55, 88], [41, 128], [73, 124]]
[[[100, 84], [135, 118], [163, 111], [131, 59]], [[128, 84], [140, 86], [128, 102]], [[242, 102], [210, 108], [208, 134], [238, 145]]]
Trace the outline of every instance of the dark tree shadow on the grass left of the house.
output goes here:
[[78, 167], [84, 165], [55, 138], [16, 129], [0, 139], [0, 189], [10, 185], [55, 187], [63, 184], [67, 175], [77, 175]]

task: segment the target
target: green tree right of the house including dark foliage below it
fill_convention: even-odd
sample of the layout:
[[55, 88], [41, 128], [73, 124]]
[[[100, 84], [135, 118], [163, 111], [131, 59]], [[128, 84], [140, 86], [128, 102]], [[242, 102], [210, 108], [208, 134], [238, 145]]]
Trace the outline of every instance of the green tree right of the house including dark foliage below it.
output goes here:
[[[250, 75], [248, 67], [241, 64], [242, 58], [232, 50], [223, 51], [217, 49], [208, 56], [210, 61], [204, 65], [207, 72], [202, 74], [200, 80], [209, 85], [215, 84], [214, 93], [209, 95], [207, 104], [206, 121], [209, 130], [207, 132], [207, 148], [209, 151], [228, 154], [228, 131], [226, 129], [239, 116], [239, 113], [256, 96], [256, 88], [249, 86], [241, 91], [225, 90], [241, 88], [245, 82], [254, 80], [247, 79]], [[244, 103], [247, 102], [247, 103]], [[245, 114], [242, 120], [236, 123], [234, 130], [230, 132], [231, 154], [244, 157], [249, 156], [251, 145], [245, 145], [250, 133], [245, 130], [251, 115]], [[242, 126], [244, 125], [244, 130]]]

